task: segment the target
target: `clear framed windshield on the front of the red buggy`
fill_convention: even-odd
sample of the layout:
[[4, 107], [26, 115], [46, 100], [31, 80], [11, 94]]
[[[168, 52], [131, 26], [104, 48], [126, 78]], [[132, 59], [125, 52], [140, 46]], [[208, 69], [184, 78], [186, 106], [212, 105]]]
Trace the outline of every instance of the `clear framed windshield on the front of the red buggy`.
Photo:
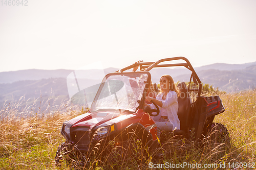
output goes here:
[[147, 78], [147, 74], [138, 72], [107, 76], [105, 82], [100, 85], [91, 111], [135, 112], [142, 98]]

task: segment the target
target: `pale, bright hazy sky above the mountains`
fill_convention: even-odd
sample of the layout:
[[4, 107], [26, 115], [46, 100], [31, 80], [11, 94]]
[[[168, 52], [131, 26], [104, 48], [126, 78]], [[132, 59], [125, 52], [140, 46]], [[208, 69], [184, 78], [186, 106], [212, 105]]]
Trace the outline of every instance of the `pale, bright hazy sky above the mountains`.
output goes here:
[[4, 2], [0, 72], [98, 61], [122, 68], [175, 56], [194, 66], [256, 61], [255, 0]]

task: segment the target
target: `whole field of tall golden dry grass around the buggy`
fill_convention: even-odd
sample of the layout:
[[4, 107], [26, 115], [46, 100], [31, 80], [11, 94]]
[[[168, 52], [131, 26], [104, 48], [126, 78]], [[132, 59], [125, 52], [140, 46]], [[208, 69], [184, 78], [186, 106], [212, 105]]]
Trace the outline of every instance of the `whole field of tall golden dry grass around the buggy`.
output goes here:
[[[154, 164], [160, 167], [164, 162], [166, 166], [168, 163], [184, 162], [194, 165], [183, 169], [220, 169], [210, 167], [212, 164], [225, 164], [223, 169], [234, 169], [236, 166], [237, 169], [242, 166], [244, 169], [249, 169], [249, 166], [256, 168], [256, 165], [253, 166], [256, 162], [255, 96], [256, 90], [221, 94], [226, 111], [216, 116], [214, 122], [228, 129], [230, 140], [226, 136], [218, 142], [215, 142], [216, 138], [209, 137], [201, 142], [191, 142], [172, 139], [166, 134], [168, 140], [161, 143], [160, 149], [152, 155], [140, 149], [139, 141], [135, 141], [137, 151], [133, 156], [118, 160], [114, 148], [105, 160], [95, 158], [84, 169], [151, 169]], [[26, 101], [20, 100], [5, 104], [0, 112], [0, 169], [76, 169], [77, 166], [65, 162], [56, 167], [55, 154], [58, 145], [65, 141], [60, 135], [62, 123], [85, 111], [69, 103], [44, 111], [34, 105], [23, 107], [24, 103]], [[46, 101], [42, 105], [48, 103]], [[203, 167], [205, 164], [209, 166]]]

